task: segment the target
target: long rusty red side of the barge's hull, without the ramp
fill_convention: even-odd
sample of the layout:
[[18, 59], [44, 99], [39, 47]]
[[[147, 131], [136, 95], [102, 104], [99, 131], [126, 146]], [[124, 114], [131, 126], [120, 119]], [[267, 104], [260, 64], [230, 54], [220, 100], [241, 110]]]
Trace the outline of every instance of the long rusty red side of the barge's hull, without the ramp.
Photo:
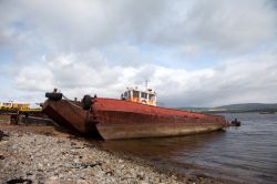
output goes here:
[[161, 137], [217, 131], [229, 124], [223, 116], [96, 98], [90, 122], [104, 140]]

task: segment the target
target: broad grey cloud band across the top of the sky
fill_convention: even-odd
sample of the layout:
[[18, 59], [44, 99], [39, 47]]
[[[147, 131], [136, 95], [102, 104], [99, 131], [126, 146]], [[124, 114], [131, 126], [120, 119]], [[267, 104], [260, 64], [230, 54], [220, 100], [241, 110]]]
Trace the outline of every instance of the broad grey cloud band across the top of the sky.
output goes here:
[[2, 1], [0, 39], [30, 47], [39, 41], [50, 51], [83, 51], [127, 40], [233, 53], [276, 39], [277, 13], [268, 2]]

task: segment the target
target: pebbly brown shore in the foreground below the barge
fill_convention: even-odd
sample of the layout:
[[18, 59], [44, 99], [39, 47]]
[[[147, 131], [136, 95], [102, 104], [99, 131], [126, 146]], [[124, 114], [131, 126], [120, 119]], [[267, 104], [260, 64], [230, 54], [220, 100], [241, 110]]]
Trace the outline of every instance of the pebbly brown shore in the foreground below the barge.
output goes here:
[[0, 141], [0, 183], [229, 183], [162, 171], [150, 161], [103, 150], [53, 126], [0, 122], [0, 131], [8, 135]]

